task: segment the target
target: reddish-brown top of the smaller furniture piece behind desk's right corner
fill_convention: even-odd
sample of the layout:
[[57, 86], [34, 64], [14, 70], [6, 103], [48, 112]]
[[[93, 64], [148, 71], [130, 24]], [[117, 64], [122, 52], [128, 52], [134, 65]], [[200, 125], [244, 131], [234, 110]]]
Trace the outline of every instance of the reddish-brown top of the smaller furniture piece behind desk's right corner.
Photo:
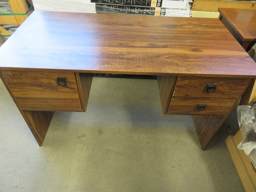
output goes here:
[[256, 41], [256, 10], [231, 8], [218, 10], [243, 41]]

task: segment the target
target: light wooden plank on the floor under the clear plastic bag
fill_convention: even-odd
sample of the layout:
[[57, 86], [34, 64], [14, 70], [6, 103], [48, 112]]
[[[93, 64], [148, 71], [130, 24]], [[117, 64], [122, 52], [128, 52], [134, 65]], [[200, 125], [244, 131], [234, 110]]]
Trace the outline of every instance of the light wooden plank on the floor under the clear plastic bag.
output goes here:
[[242, 135], [239, 130], [235, 136], [228, 136], [225, 142], [245, 190], [247, 192], [256, 191], [255, 168], [244, 151], [237, 148], [241, 141]]

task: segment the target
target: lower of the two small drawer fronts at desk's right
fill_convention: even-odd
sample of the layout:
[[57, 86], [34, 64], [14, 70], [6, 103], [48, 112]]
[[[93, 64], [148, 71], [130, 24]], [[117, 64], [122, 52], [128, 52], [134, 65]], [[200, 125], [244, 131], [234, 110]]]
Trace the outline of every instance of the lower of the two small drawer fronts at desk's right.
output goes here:
[[[172, 97], [168, 114], [226, 115], [236, 99], [204, 97]], [[204, 110], [197, 110], [197, 104], [206, 104]], [[202, 108], [201, 108], [202, 109]]]

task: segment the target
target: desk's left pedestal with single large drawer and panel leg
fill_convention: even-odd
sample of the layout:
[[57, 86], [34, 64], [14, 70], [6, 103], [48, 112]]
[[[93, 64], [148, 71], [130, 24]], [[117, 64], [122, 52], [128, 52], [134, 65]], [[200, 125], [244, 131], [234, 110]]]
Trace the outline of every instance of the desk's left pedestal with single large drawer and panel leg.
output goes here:
[[39, 146], [54, 111], [86, 111], [93, 79], [91, 74], [41, 70], [1, 70], [0, 77]]

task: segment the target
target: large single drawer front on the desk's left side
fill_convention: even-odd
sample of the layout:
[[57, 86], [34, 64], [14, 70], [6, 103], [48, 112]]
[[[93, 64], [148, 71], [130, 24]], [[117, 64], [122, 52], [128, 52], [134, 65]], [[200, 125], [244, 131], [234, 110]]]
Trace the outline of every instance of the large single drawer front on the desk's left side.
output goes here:
[[[70, 72], [1, 71], [23, 110], [82, 111], [76, 78]], [[66, 86], [57, 78], [66, 78]]]

